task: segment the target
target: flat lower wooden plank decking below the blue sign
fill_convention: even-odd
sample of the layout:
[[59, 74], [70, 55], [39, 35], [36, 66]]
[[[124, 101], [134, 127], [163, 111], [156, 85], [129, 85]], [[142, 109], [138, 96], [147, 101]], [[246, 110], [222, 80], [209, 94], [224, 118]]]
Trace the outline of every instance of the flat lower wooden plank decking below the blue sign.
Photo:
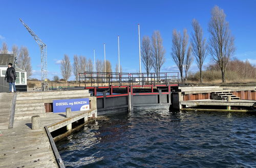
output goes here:
[[[91, 115], [90, 111], [72, 112], [75, 116]], [[47, 113], [40, 118], [40, 129], [31, 129], [31, 119], [15, 120], [14, 127], [0, 129], [0, 167], [58, 167], [44, 126], [67, 122], [64, 113]], [[8, 119], [9, 121], [9, 119]]]

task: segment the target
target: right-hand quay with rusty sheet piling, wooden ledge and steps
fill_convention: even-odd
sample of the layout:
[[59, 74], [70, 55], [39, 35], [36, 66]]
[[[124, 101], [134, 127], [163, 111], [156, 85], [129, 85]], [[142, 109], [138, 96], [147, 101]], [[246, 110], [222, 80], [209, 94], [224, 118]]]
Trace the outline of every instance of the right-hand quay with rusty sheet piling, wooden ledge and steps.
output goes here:
[[251, 110], [256, 103], [256, 87], [179, 87], [172, 95], [172, 108], [203, 107], [217, 111]]

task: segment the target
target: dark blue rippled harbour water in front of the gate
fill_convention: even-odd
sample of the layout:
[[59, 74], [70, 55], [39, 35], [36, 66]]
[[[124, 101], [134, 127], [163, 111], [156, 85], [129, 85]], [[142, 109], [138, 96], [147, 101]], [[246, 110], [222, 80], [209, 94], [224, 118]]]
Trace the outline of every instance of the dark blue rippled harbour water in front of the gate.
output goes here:
[[256, 115], [135, 110], [56, 146], [66, 167], [256, 167]]

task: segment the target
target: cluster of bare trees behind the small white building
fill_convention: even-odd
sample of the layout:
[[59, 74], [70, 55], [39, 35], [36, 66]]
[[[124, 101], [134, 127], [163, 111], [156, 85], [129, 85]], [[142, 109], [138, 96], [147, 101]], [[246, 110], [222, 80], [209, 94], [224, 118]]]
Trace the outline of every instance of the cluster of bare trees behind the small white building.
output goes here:
[[29, 56], [29, 50], [27, 47], [22, 46], [18, 48], [17, 45], [12, 46], [12, 51], [8, 51], [8, 45], [6, 42], [3, 42], [2, 47], [0, 48], [0, 53], [8, 54], [12, 53], [14, 54], [15, 60], [15, 65], [27, 71], [27, 78], [31, 77], [32, 75], [32, 66], [31, 66], [31, 58]]

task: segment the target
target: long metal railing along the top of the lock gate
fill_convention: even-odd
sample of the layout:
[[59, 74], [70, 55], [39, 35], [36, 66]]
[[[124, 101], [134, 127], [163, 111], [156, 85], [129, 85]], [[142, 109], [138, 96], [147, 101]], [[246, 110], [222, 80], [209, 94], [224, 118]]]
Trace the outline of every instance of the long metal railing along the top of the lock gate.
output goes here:
[[179, 85], [178, 72], [156, 73], [115, 73], [83, 72], [79, 73], [79, 87], [106, 86], [158, 86]]

